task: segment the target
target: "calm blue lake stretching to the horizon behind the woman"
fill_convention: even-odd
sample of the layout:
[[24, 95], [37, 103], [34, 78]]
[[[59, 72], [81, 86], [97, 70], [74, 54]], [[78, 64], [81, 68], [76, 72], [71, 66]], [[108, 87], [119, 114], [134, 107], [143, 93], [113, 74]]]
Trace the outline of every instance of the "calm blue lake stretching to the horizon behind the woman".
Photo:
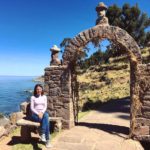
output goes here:
[[35, 76], [0, 76], [0, 113], [9, 115], [20, 110], [20, 103], [30, 99]]

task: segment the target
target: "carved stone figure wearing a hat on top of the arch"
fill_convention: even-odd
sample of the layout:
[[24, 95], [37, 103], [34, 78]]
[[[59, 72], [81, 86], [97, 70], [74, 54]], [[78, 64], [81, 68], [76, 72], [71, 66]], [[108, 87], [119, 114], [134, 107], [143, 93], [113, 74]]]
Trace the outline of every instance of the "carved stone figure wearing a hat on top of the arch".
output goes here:
[[96, 6], [96, 12], [98, 16], [96, 20], [96, 25], [109, 25], [108, 18], [106, 17], [107, 9], [108, 9], [107, 6], [103, 2], [100, 2]]

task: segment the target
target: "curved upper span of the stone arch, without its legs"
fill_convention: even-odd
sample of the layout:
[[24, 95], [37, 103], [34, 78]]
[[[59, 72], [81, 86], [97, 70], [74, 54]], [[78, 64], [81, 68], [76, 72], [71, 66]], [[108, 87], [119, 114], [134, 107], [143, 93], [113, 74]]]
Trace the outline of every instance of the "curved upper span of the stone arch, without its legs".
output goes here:
[[140, 48], [135, 40], [123, 29], [116, 26], [97, 25], [91, 29], [80, 32], [65, 47], [63, 64], [67, 65], [76, 60], [77, 52], [94, 38], [109, 39], [124, 47], [130, 62], [142, 63]]

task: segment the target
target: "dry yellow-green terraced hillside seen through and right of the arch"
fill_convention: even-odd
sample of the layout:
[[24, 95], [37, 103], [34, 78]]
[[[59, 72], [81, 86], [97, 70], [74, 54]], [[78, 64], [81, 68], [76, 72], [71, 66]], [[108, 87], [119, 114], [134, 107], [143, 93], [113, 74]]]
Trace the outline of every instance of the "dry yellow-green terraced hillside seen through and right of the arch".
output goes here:
[[[144, 62], [150, 62], [150, 48], [142, 50]], [[110, 58], [109, 63], [79, 71], [79, 106], [130, 96], [130, 65], [126, 56]]]

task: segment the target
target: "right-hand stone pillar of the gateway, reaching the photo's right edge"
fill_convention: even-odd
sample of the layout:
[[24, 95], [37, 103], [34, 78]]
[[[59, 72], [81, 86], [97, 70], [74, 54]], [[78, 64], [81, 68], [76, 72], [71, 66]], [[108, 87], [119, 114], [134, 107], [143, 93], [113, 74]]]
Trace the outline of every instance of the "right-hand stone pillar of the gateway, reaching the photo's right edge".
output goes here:
[[150, 64], [139, 64], [135, 76], [136, 93], [131, 95], [134, 100], [131, 105], [131, 118], [136, 114], [131, 122], [131, 137], [150, 141]]

